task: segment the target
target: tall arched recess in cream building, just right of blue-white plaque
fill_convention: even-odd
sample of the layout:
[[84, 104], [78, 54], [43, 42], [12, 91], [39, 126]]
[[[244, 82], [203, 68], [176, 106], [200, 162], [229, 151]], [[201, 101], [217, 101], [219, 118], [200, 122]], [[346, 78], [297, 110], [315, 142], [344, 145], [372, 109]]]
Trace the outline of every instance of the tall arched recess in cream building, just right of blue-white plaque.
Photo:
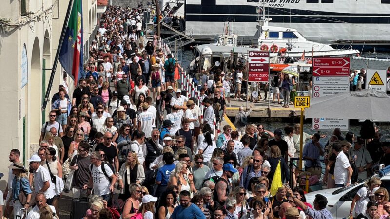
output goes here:
[[27, 111], [27, 146], [30, 144], [39, 143], [40, 128], [41, 128], [41, 60], [40, 45], [38, 37], [35, 38], [33, 49], [31, 53], [31, 74], [29, 76], [28, 83], [28, 111]]

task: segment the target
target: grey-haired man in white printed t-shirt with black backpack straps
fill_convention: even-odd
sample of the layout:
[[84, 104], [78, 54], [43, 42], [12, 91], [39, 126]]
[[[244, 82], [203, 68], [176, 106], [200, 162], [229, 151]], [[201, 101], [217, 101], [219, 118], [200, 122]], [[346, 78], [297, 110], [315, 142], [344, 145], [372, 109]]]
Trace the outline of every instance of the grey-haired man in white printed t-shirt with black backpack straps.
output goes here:
[[101, 196], [105, 201], [110, 203], [110, 192], [114, 191], [117, 176], [108, 164], [101, 162], [99, 151], [94, 151], [91, 154], [90, 170], [91, 176], [89, 182], [83, 186], [83, 189], [87, 189], [92, 185], [94, 194]]

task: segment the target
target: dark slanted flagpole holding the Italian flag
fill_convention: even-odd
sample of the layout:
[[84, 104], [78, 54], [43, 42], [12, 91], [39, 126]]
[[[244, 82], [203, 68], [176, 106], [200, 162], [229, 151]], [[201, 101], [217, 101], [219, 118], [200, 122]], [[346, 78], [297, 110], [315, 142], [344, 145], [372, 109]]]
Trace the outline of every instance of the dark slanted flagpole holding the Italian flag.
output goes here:
[[[67, 23], [68, 23], [68, 20], [69, 20], [69, 17], [70, 17], [70, 11], [71, 11], [71, 8], [72, 8], [72, 2], [73, 2], [73, 0], [69, 0], [69, 5], [68, 5], [68, 9], [66, 11], [64, 24], [62, 26], [61, 36], [59, 37], [59, 42], [58, 42], [56, 56], [54, 56], [53, 67], [51, 69], [46, 69], [46, 70], [51, 70], [52, 72], [50, 73], [49, 83], [47, 84], [47, 89], [46, 89], [46, 93], [45, 93], [45, 99], [43, 100], [43, 104], [42, 104], [42, 110], [46, 109], [47, 101], [49, 101], [49, 95], [50, 95], [50, 91], [52, 89], [54, 75], [56, 74], [56, 70], [57, 70], [57, 63], [58, 63], [59, 52], [61, 51], [62, 42], [64, 41], [64, 36], [65, 36], [65, 29], [66, 29], [66, 26], [67, 26]], [[77, 80], [77, 78], [75, 78], [75, 80]]]

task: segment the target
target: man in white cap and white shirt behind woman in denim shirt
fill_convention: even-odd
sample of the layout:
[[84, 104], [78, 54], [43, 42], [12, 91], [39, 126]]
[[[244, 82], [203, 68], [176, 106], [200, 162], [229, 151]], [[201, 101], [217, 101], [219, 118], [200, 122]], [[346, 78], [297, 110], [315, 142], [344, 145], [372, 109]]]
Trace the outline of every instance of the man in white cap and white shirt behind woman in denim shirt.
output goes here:
[[29, 160], [30, 166], [34, 169], [34, 190], [36, 193], [42, 192], [45, 194], [47, 204], [53, 202], [55, 185], [50, 178], [49, 170], [40, 165], [41, 159], [37, 154], [31, 156]]

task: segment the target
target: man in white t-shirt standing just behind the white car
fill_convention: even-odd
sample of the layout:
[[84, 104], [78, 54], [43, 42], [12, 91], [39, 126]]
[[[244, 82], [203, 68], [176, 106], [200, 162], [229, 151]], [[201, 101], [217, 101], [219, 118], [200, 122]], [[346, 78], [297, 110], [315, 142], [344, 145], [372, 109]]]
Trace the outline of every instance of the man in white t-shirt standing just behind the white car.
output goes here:
[[345, 155], [350, 148], [351, 146], [342, 146], [340, 143], [335, 143], [332, 146], [334, 153], [337, 155], [336, 163], [334, 164], [334, 183], [336, 187], [344, 187], [351, 184], [353, 169], [347, 155]]

